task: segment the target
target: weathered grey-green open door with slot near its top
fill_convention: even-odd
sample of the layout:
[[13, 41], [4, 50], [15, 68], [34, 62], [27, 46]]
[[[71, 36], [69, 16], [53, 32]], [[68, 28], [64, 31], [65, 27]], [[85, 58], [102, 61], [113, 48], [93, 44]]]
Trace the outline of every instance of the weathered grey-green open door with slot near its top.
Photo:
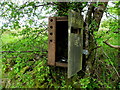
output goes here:
[[68, 78], [70, 78], [82, 69], [82, 15], [75, 11], [69, 11], [68, 25]]

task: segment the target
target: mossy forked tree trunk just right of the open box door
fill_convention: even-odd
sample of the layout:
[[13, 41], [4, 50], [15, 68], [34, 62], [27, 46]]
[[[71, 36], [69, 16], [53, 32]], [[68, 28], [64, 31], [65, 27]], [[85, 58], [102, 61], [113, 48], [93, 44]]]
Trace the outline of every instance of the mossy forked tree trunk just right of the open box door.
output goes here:
[[89, 54], [86, 56], [86, 76], [90, 76], [93, 73], [93, 66], [96, 60], [96, 41], [94, 39], [94, 31], [98, 31], [100, 21], [102, 19], [104, 10], [106, 9], [107, 2], [98, 3], [98, 7], [94, 7], [95, 2], [89, 5], [87, 16], [86, 16], [86, 27], [85, 27], [85, 49], [88, 50]]

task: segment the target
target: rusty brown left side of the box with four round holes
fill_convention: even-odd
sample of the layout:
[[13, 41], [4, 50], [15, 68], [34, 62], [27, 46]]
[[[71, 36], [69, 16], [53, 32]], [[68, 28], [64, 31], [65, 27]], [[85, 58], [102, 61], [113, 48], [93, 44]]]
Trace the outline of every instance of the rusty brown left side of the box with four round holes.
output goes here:
[[50, 17], [48, 25], [48, 65], [55, 66], [55, 59], [56, 59], [56, 17]]

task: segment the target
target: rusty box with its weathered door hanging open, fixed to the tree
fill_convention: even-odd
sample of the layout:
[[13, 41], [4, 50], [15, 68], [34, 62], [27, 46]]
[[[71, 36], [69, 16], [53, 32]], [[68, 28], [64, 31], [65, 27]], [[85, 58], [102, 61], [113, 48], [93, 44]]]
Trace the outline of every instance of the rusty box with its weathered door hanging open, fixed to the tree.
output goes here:
[[66, 17], [49, 17], [48, 65], [68, 67], [68, 77], [82, 68], [83, 19], [71, 11]]

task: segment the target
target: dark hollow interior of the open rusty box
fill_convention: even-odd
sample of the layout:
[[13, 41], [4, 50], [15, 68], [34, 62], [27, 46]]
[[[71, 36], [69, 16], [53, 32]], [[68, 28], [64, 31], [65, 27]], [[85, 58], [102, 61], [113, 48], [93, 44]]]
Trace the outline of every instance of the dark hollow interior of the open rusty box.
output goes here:
[[56, 23], [56, 61], [67, 62], [68, 59], [68, 22]]

